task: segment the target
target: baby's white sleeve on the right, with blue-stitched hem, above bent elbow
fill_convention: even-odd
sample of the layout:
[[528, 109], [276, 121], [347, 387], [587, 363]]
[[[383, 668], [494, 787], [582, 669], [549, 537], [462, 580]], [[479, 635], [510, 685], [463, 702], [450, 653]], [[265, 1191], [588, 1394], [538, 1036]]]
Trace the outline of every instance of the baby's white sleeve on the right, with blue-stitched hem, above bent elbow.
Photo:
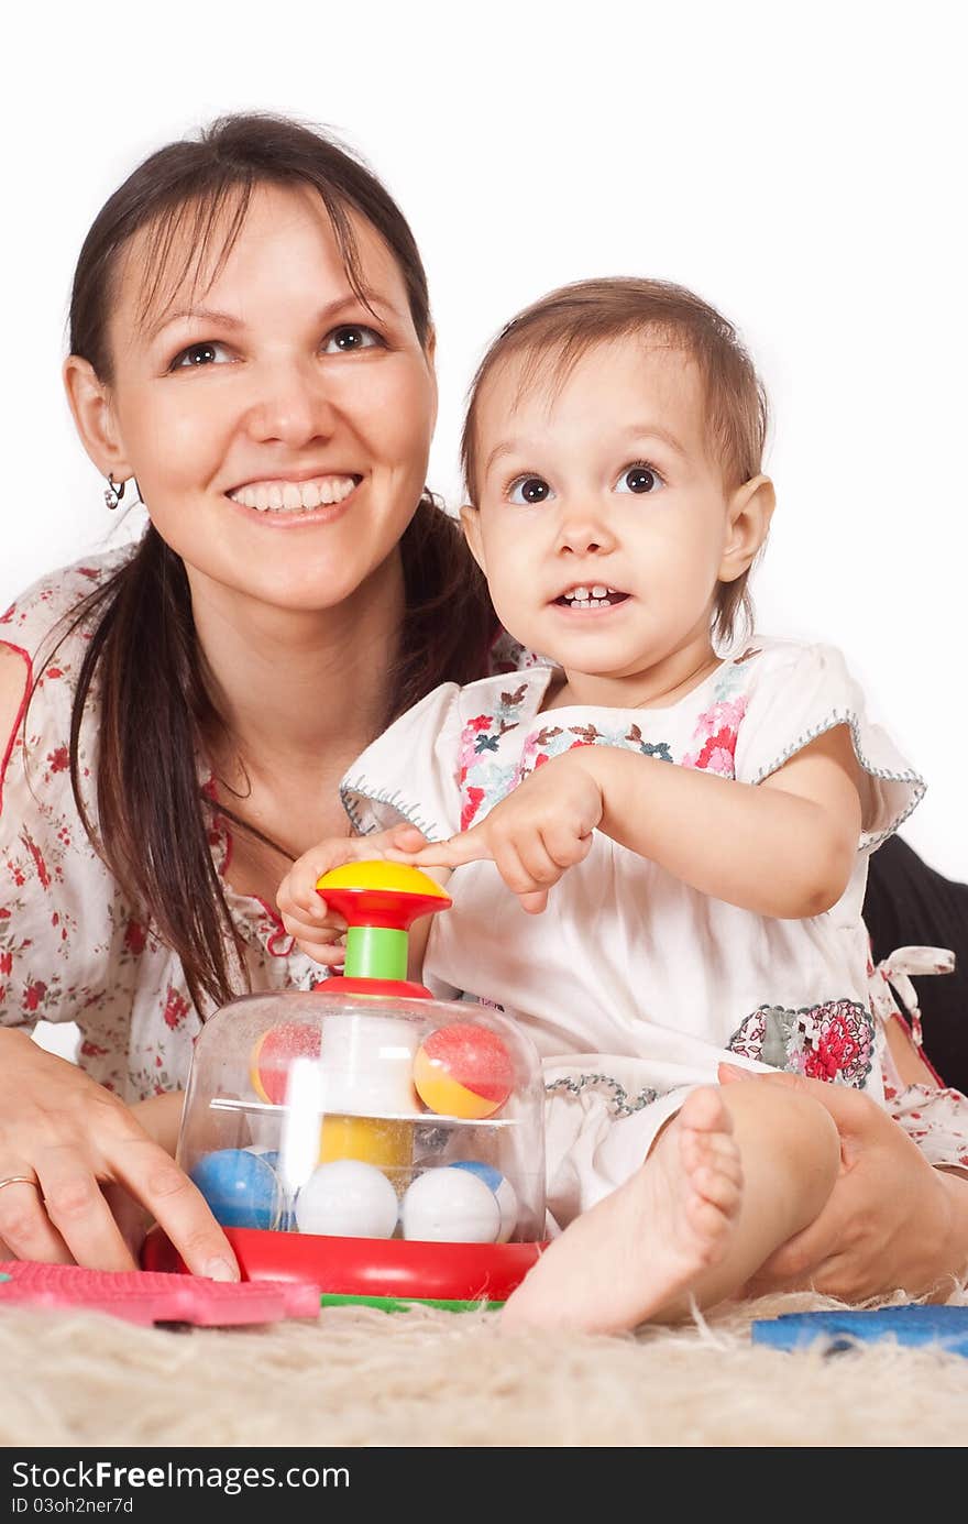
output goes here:
[[907, 820], [925, 785], [884, 727], [834, 646], [777, 642], [758, 663], [736, 738], [736, 779], [762, 783], [797, 751], [846, 725], [861, 768], [860, 847], [872, 849]]

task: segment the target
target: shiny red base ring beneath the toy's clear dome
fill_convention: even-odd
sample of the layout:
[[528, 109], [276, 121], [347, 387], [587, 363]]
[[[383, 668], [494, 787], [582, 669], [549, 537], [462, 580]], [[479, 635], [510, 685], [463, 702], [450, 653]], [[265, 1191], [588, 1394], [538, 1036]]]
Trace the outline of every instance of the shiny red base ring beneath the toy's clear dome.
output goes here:
[[[421, 1244], [413, 1239], [323, 1237], [223, 1228], [242, 1280], [297, 1280], [343, 1297], [434, 1301], [506, 1301], [544, 1244]], [[142, 1251], [145, 1269], [184, 1273], [160, 1228]]]

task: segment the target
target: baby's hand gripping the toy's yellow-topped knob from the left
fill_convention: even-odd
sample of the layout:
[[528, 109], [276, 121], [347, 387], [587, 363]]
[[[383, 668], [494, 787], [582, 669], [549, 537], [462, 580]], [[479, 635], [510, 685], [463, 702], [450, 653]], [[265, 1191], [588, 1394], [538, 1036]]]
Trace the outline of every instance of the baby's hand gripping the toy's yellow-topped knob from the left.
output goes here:
[[412, 853], [425, 846], [427, 838], [416, 826], [399, 824], [372, 837], [332, 837], [309, 847], [282, 879], [276, 904], [282, 925], [317, 963], [341, 968], [346, 948], [338, 940], [346, 920], [331, 910], [316, 887], [317, 878], [343, 863], [366, 863], [372, 858], [396, 856], [393, 849]]

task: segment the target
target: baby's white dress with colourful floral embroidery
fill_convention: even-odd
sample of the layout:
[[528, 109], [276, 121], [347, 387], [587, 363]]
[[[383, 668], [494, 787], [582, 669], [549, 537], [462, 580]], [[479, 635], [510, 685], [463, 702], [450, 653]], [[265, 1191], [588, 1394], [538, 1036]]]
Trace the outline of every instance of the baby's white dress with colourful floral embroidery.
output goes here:
[[[444, 840], [578, 745], [756, 785], [848, 725], [863, 770], [863, 831], [841, 899], [805, 920], [710, 899], [599, 831], [540, 916], [520, 908], [492, 863], [454, 870], [453, 908], [434, 916], [424, 980], [442, 997], [497, 1006], [534, 1039], [549, 1094], [552, 1231], [628, 1178], [688, 1090], [716, 1079], [721, 1059], [884, 1099], [861, 920], [867, 856], [924, 792], [831, 646], [756, 639], [666, 709], [543, 712], [555, 675], [534, 666], [434, 689], [346, 773], [354, 826], [367, 834], [405, 818]], [[742, 852], [742, 840], [735, 847]]]

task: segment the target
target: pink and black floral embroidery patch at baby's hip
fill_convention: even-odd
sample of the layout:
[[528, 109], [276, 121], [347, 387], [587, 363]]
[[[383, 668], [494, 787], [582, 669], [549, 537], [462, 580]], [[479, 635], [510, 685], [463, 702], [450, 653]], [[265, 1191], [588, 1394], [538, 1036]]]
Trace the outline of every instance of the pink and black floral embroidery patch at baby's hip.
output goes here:
[[873, 1059], [873, 1018], [854, 1000], [828, 1000], [800, 1010], [761, 1006], [745, 1018], [727, 1047], [791, 1074], [860, 1090]]

